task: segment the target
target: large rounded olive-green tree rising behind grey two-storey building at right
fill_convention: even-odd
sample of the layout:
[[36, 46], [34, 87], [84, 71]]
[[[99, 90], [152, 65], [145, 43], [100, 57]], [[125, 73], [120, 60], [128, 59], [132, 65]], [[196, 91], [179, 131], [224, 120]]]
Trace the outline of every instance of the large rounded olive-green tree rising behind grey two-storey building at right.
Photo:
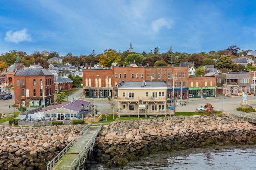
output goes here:
[[218, 59], [214, 63], [214, 68], [220, 70], [220, 68], [227, 68], [229, 72], [233, 72], [235, 65], [232, 61], [232, 55], [222, 55], [220, 56], [220, 59]]

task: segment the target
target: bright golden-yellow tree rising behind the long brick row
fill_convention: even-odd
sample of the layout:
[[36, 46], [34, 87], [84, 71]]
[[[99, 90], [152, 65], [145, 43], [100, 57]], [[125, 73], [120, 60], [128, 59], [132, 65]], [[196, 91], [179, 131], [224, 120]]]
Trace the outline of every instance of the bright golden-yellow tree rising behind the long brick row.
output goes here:
[[100, 55], [99, 63], [107, 68], [109, 68], [112, 63], [118, 63], [121, 61], [120, 54], [113, 49], [104, 50], [104, 54]]

